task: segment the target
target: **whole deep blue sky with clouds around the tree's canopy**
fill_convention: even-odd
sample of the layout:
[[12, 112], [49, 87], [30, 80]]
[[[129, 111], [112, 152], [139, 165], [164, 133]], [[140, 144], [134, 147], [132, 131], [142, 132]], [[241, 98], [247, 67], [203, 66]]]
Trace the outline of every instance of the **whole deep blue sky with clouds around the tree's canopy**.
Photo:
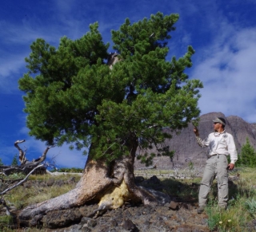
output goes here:
[[[256, 122], [256, 1], [205, 0], [9, 0], [0, 3], [0, 158], [10, 164], [17, 152], [14, 141], [27, 149], [28, 159], [38, 158], [46, 146], [28, 136], [23, 93], [18, 79], [26, 73], [25, 57], [38, 37], [58, 46], [60, 37], [82, 37], [90, 23], [98, 22], [104, 41], [110, 30], [130, 18], [137, 22], [158, 11], [178, 13], [180, 19], [170, 41], [170, 57], [181, 57], [188, 45], [196, 51], [186, 73], [200, 79], [204, 88], [202, 114], [223, 112]], [[110, 48], [110, 52], [113, 50]], [[59, 167], [84, 167], [86, 157], [67, 146], [54, 147]]]

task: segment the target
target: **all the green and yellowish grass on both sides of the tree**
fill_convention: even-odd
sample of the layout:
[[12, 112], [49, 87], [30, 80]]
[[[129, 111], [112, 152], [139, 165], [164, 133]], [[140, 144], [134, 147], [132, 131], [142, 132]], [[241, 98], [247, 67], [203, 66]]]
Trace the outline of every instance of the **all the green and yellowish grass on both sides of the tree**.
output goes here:
[[[198, 172], [198, 171], [195, 171]], [[178, 175], [187, 174], [188, 178], [176, 179], [173, 177], [166, 178], [165, 175], [161, 174], [175, 174], [174, 171], [159, 171], [159, 170], [148, 170], [148, 171], [136, 171], [136, 175], [147, 173], [148, 178], [150, 175], [157, 175], [161, 179], [162, 190], [171, 196], [176, 196], [178, 199], [184, 201], [194, 201], [197, 203], [198, 199], [198, 187], [200, 185], [201, 178], [193, 174], [191, 169], [189, 172], [180, 171]], [[177, 175], [177, 176], [178, 176]], [[64, 181], [70, 179], [71, 175], [54, 176], [55, 181], [62, 179]], [[237, 176], [239, 176], [237, 178]], [[16, 178], [21, 178], [17, 176]], [[14, 177], [12, 177], [14, 179]], [[50, 175], [32, 175], [29, 180], [34, 180], [37, 183], [46, 183], [53, 177]], [[80, 179], [79, 176], [75, 176], [76, 180]], [[256, 170], [254, 168], [236, 168], [235, 171], [230, 172], [229, 187], [229, 206], [227, 210], [220, 210], [218, 208], [217, 200], [217, 183], [214, 180], [213, 187], [211, 188], [208, 205], [206, 207], [206, 214], [208, 215], [208, 226], [212, 231], [220, 232], [246, 232], [256, 231], [252, 222], [256, 217]], [[38, 187], [25, 188], [19, 186], [14, 190], [8, 192], [5, 195], [6, 203], [9, 206], [15, 206], [17, 209], [22, 209], [25, 206], [34, 203], [40, 203], [44, 200], [54, 198], [58, 195], [62, 195], [67, 191], [74, 188], [75, 183], [65, 184], [61, 187], [43, 187], [38, 184]], [[150, 184], [146, 187], [157, 187], [157, 184]], [[2, 206], [0, 206], [1, 208]], [[255, 220], [256, 222], [256, 220]], [[12, 232], [16, 230], [11, 229], [12, 225], [11, 218], [6, 215], [0, 216], [0, 231]], [[39, 230], [26, 230], [26, 231], [39, 231]]]

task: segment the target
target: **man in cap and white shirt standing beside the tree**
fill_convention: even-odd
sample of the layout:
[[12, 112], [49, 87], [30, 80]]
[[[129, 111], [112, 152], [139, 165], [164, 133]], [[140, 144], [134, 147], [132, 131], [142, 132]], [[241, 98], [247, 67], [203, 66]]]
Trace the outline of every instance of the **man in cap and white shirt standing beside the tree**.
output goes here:
[[[208, 159], [198, 195], [198, 214], [202, 214], [205, 210], [207, 195], [210, 192], [210, 186], [215, 175], [217, 175], [218, 180], [218, 206], [226, 209], [228, 201], [227, 170], [233, 170], [234, 163], [238, 159], [234, 138], [225, 131], [226, 120], [218, 117], [213, 121], [214, 132], [210, 133], [206, 140], [201, 140], [198, 128], [194, 128], [194, 134], [199, 146], [208, 147]], [[227, 155], [230, 155], [230, 164], [227, 163]]]

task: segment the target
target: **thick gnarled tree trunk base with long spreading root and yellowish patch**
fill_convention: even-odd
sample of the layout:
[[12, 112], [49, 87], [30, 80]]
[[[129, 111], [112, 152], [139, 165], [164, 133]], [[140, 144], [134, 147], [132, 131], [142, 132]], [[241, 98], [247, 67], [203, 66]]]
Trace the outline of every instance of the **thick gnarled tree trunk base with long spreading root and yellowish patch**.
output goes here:
[[42, 222], [42, 217], [52, 210], [69, 209], [86, 203], [98, 203], [98, 210], [95, 210], [97, 213], [100, 210], [118, 208], [127, 201], [144, 204], [157, 202], [154, 195], [134, 183], [136, 148], [137, 144], [131, 147], [129, 156], [116, 159], [108, 166], [102, 160], [89, 159], [82, 178], [72, 191], [26, 207], [19, 214], [19, 221], [22, 225], [34, 226]]

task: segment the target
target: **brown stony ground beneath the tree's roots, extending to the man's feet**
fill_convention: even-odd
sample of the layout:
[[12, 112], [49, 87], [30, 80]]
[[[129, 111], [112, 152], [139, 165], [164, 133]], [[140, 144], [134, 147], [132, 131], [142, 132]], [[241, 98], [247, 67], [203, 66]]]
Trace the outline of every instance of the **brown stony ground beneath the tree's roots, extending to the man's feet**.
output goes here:
[[[136, 177], [136, 180], [144, 187], [153, 186], [152, 191], [162, 191], [163, 185], [156, 176], [146, 180]], [[51, 184], [50, 181], [46, 183], [47, 186]], [[34, 184], [28, 182], [26, 185]], [[197, 199], [178, 199], [162, 196], [161, 193], [160, 197], [166, 197], [161, 206], [126, 203], [117, 210], [105, 210], [98, 214], [95, 213], [98, 209], [96, 204], [52, 211], [44, 216], [42, 221], [48, 229], [42, 228], [42, 231], [210, 231], [206, 214], [197, 214]]]

